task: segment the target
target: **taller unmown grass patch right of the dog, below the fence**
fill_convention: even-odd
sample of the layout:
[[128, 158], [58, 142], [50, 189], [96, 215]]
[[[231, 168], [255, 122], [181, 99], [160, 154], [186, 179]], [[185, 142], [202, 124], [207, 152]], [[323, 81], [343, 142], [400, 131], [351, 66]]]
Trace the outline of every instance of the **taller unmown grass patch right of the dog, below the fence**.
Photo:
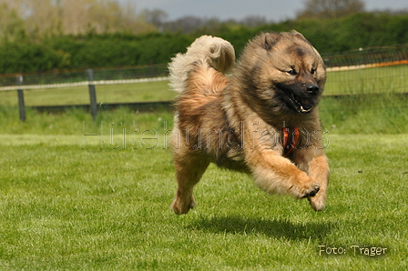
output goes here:
[[408, 133], [408, 95], [323, 96], [321, 123], [335, 134]]

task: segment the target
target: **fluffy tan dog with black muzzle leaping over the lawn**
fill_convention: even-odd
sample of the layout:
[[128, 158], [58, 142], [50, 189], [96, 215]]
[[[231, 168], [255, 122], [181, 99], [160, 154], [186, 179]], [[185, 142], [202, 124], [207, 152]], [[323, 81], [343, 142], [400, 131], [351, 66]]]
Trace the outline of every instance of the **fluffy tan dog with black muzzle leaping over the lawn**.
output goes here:
[[176, 214], [196, 205], [193, 188], [209, 163], [250, 174], [267, 193], [324, 208], [330, 171], [318, 104], [326, 68], [303, 35], [257, 35], [237, 63], [228, 41], [203, 35], [168, 70], [179, 92], [171, 137]]

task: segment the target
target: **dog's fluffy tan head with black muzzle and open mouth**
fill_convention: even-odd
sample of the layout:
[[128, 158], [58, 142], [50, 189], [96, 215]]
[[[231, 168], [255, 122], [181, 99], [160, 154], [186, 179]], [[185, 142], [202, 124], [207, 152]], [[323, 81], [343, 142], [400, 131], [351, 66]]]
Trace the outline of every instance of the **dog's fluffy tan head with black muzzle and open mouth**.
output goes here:
[[255, 37], [244, 51], [241, 67], [250, 95], [280, 111], [311, 113], [326, 82], [321, 55], [296, 31]]

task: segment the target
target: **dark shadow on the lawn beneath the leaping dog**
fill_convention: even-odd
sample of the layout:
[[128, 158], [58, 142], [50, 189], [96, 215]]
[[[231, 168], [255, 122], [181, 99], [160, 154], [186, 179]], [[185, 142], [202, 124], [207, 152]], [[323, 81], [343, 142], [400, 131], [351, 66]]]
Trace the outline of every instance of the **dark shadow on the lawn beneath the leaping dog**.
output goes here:
[[289, 220], [245, 218], [241, 216], [200, 217], [189, 229], [203, 230], [214, 234], [261, 234], [291, 240], [322, 240], [335, 226], [328, 222], [295, 224]]

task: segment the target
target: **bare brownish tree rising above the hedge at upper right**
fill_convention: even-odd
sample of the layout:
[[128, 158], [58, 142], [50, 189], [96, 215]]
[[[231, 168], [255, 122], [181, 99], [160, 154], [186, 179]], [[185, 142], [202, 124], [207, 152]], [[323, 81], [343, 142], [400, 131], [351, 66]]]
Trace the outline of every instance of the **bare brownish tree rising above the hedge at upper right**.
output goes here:
[[331, 19], [364, 11], [361, 0], [307, 0], [298, 18]]

